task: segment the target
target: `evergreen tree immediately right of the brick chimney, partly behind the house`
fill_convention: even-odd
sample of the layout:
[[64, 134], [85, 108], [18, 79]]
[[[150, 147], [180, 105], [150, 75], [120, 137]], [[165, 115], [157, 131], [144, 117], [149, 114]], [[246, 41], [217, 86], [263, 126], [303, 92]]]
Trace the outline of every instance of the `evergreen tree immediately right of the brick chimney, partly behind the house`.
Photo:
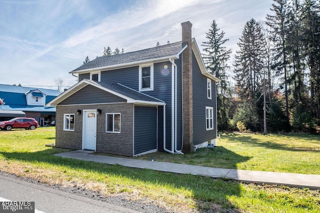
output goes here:
[[223, 39], [224, 32], [219, 31], [220, 29], [213, 20], [205, 36], [207, 41], [202, 42], [201, 46], [203, 46], [202, 58], [207, 70], [221, 80], [217, 85], [217, 125], [219, 130], [227, 130], [231, 91], [226, 71], [230, 68], [227, 62], [231, 50], [224, 46], [229, 39]]

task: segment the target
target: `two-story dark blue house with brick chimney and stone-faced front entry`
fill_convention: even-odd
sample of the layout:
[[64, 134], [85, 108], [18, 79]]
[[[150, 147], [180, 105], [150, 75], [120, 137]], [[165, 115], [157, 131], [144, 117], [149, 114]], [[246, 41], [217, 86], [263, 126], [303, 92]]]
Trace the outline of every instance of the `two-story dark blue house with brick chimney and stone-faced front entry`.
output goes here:
[[78, 83], [50, 101], [55, 146], [136, 156], [193, 152], [216, 139], [216, 77], [205, 70], [192, 24], [182, 41], [102, 56], [74, 69]]

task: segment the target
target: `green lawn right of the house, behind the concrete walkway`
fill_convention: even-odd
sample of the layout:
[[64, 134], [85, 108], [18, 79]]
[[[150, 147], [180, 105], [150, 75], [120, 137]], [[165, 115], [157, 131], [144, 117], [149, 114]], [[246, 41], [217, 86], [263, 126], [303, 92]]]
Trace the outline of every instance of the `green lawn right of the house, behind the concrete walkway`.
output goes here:
[[221, 134], [217, 147], [172, 155], [156, 152], [140, 160], [205, 167], [320, 175], [320, 136]]

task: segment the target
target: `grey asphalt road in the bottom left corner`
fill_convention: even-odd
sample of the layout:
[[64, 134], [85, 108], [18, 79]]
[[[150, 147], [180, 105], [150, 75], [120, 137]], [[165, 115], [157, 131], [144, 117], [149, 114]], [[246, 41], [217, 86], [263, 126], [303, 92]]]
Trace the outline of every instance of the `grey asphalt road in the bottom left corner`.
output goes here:
[[34, 202], [35, 213], [139, 213], [0, 175], [0, 201]]

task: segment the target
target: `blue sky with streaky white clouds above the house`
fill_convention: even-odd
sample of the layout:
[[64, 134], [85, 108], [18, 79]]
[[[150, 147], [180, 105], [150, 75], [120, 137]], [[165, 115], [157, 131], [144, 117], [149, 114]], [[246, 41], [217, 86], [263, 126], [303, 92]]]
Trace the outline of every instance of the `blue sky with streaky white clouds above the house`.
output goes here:
[[265, 20], [272, 0], [0, 0], [0, 84], [57, 89], [104, 47], [131, 52], [181, 40], [192, 23], [199, 49], [216, 21], [233, 53], [245, 23]]

